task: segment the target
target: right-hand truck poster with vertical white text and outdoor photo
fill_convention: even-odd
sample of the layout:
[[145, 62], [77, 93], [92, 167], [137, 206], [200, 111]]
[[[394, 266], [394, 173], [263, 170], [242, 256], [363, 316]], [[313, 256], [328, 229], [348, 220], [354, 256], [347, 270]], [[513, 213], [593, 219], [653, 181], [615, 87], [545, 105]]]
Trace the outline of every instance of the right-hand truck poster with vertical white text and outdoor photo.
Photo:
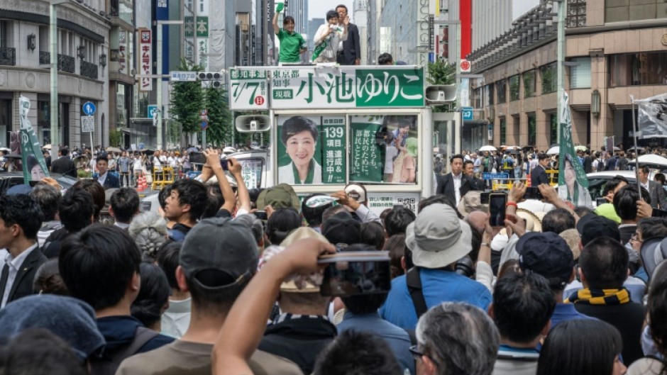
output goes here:
[[353, 116], [350, 129], [350, 181], [417, 183], [417, 116]]

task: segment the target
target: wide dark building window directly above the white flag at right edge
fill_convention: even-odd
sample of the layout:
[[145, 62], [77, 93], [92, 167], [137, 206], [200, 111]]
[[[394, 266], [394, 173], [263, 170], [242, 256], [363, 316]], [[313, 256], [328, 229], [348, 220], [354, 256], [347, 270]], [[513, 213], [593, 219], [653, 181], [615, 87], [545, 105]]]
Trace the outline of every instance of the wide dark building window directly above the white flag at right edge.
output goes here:
[[667, 52], [611, 55], [609, 65], [611, 87], [667, 84]]

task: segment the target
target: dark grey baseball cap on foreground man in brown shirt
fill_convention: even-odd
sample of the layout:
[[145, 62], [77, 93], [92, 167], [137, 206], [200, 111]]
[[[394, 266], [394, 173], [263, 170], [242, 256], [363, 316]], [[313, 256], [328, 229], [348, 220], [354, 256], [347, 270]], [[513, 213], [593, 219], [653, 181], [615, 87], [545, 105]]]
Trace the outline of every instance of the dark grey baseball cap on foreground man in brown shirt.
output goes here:
[[230, 218], [206, 218], [189, 231], [180, 266], [202, 289], [218, 291], [250, 279], [258, 264], [250, 228]]

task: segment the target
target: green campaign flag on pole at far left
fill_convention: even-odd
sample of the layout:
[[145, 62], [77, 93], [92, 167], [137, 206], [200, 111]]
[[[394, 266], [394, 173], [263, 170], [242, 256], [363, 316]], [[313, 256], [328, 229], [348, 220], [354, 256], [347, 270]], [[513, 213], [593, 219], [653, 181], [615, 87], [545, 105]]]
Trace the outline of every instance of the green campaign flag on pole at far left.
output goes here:
[[[26, 96], [18, 98], [18, 120], [21, 124], [21, 159], [23, 160], [23, 182], [27, 185], [30, 181], [40, 181], [49, 176], [49, 170], [44, 162], [42, 149], [37, 140], [35, 129], [28, 120], [30, 111], [30, 99]], [[55, 145], [51, 145], [55, 147]]]

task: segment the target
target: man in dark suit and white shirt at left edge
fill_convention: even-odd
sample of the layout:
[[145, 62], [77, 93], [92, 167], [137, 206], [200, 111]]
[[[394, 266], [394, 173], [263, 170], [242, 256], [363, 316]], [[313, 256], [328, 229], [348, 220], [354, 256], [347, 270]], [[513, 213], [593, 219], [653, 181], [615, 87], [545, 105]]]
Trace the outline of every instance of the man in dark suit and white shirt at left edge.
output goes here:
[[27, 194], [0, 197], [0, 249], [6, 249], [0, 273], [0, 308], [33, 294], [37, 269], [46, 262], [37, 244], [42, 210]]

